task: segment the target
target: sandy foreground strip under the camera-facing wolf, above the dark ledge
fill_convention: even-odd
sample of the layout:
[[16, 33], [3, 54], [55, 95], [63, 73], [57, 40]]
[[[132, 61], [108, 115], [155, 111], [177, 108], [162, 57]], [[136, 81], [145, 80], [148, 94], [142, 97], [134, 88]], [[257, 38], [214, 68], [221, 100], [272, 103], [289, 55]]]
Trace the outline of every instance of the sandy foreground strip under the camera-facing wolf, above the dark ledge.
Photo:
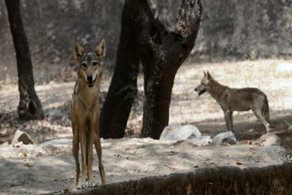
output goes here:
[[[72, 190], [74, 159], [71, 140], [63, 144], [0, 147], [1, 194], [62, 193]], [[43, 151], [41, 151], [41, 149]], [[152, 139], [102, 140], [103, 165], [108, 183], [217, 166], [241, 169], [280, 165], [282, 147], [250, 145], [195, 147], [191, 142]], [[100, 185], [94, 154], [94, 175]]]

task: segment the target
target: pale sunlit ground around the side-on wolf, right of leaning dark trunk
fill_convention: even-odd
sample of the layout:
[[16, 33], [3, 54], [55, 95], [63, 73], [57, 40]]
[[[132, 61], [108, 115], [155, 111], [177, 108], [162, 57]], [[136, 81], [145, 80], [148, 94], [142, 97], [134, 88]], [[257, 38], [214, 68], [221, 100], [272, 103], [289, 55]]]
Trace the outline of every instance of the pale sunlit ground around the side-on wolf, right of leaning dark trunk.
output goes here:
[[[218, 103], [208, 94], [198, 97], [193, 91], [210, 71], [214, 79], [228, 87], [257, 87], [266, 93], [269, 101], [272, 131], [282, 137], [292, 151], [292, 61], [255, 60], [212, 64], [184, 64], [178, 71], [172, 89], [170, 124], [194, 124], [203, 134], [214, 136], [226, 131], [224, 114]], [[143, 98], [142, 78], [139, 80], [139, 99]], [[130, 135], [141, 129], [142, 101], [132, 108], [128, 122]], [[265, 128], [257, 122], [252, 111], [235, 112], [235, 136], [243, 142], [257, 139]]]

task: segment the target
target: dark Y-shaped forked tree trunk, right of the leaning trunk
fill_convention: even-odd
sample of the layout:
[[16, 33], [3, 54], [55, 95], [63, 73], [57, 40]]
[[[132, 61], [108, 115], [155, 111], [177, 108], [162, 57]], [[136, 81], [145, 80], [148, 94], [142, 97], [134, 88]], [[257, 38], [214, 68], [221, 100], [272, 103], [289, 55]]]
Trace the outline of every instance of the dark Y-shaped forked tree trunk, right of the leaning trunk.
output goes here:
[[154, 18], [147, 0], [126, 0], [135, 26], [144, 70], [143, 125], [141, 137], [159, 139], [169, 122], [175, 74], [193, 49], [200, 26], [200, 0], [183, 0], [175, 32], [168, 32]]

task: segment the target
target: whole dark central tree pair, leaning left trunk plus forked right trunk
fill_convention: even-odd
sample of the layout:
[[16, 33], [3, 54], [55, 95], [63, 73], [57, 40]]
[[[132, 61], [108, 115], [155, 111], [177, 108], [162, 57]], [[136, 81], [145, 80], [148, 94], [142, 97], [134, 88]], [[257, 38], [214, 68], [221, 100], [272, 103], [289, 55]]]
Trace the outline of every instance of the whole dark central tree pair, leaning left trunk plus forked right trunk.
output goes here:
[[[104, 130], [109, 135], [105, 138], [123, 137], [132, 104], [132, 97], [128, 98], [127, 95], [130, 92], [135, 95], [137, 91], [136, 50], [144, 72], [145, 102], [141, 137], [160, 138], [163, 128], [169, 122], [174, 77], [193, 49], [202, 11], [200, 0], [182, 0], [175, 31], [169, 32], [159, 19], [154, 18], [147, 0], [125, 1], [120, 36], [120, 46], [123, 43], [124, 47], [121, 49], [119, 46], [118, 56], [125, 52], [130, 56], [122, 58], [127, 63], [120, 63], [120, 66], [117, 63], [109, 95], [101, 111], [101, 132]], [[123, 31], [126, 27], [128, 33]], [[121, 96], [115, 98], [119, 94]], [[115, 107], [112, 112], [105, 112], [113, 105], [109, 102], [119, 107]], [[121, 111], [125, 108], [127, 112]], [[119, 123], [115, 123], [116, 121]], [[115, 125], [120, 129], [115, 128]], [[119, 136], [115, 136], [118, 135], [117, 132]]]

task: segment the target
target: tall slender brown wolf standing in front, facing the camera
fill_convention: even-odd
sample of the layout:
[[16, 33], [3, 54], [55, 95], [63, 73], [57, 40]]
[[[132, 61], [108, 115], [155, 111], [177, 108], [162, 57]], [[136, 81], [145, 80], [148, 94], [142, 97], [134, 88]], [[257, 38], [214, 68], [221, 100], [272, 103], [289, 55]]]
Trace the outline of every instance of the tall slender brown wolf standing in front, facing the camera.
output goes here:
[[[75, 59], [78, 61], [78, 80], [74, 87], [71, 125], [73, 130], [73, 156], [75, 159], [75, 180], [73, 190], [94, 187], [92, 176], [93, 144], [99, 158], [99, 174], [102, 184], [106, 183], [101, 161], [99, 139], [99, 87], [102, 76], [103, 58], [106, 55], [106, 42], [102, 39], [95, 53], [87, 53], [75, 41], [73, 44]], [[79, 180], [78, 150], [81, 146], [82, 175]]]

